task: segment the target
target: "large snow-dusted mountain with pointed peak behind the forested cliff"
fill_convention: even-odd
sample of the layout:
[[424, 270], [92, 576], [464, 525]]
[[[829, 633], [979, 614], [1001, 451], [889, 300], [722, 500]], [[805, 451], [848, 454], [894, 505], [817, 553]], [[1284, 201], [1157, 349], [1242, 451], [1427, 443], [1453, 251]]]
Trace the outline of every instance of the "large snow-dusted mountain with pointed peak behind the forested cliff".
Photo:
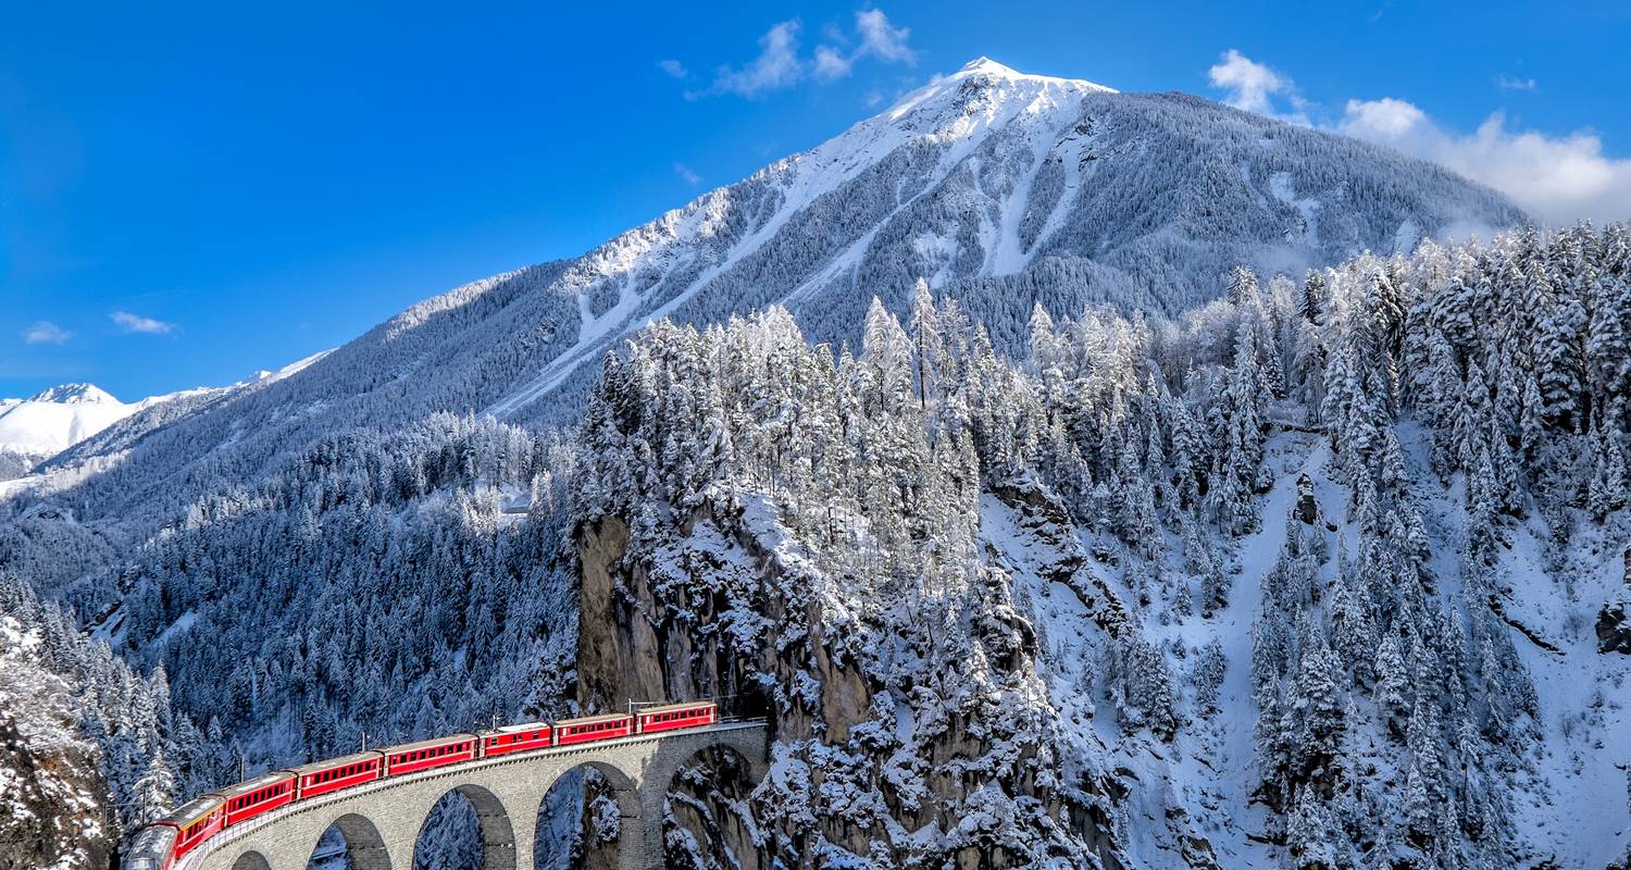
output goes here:
[[571, 421], [600, 356], [652, 318], [781, 304], [812, 340], [853, 344], [873, 295], [904, 313], [923, 277], [1014, 353], [1037, 304], [1178, 312], [1235, 264], [1300, 271], [1522, 220], [1386, 149], [979, 59], [581, 258], [466, 284], [271, 388], [135, 415], [55, 464], [129, 451], [86, 504], [158, 516], [145, 501], [184, 495], [181, 468], [264, 467], [352, 426], [444, 410]]

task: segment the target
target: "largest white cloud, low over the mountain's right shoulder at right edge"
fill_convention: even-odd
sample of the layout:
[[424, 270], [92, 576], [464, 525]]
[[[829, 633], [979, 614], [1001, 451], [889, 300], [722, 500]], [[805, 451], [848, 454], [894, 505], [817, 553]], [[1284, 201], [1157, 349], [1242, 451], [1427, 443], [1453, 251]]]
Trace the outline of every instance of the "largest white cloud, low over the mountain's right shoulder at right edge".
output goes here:
[[1603, 155], [1602, 139], [1587, 132], [1512, 131], [1494, 113], [1461, 134], [1393, 98], [1349, 100], [1336, 129], [1489, 184], [1546, 224], [1631, 219], [1631, 160]]

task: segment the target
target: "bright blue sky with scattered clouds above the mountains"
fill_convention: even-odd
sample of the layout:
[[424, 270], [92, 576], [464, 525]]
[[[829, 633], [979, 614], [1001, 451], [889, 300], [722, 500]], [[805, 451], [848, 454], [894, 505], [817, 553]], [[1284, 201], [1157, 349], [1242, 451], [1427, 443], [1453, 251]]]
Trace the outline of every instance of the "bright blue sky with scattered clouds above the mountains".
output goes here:
[[1624, 3], [64, 5], [0, 20], [0, 397], [238, 380], [990, 55], [1631, 217]]

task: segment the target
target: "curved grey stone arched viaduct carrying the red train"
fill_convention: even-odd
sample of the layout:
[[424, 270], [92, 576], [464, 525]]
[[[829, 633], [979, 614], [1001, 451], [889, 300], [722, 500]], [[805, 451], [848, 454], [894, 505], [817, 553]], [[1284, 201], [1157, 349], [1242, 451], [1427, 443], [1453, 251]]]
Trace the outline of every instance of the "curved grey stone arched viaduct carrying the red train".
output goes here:
[[636, 735], [422, 770], [298, 801], [225, 829], [176, 862], [175, 870], [305, 870], [329, 826], [346, 836], [357, 870], [413, 870], [419, 829], [435, 803], [458, 792], [481, 821], [483, 870], [533, 870], [543, 800], [563, 774], [594, 767], [621, 808], [618, 868], [664, 867], [664, 801], [674, 775], [698, 752], [724, 748], [755, 782], [765, 774], [765, 725]]

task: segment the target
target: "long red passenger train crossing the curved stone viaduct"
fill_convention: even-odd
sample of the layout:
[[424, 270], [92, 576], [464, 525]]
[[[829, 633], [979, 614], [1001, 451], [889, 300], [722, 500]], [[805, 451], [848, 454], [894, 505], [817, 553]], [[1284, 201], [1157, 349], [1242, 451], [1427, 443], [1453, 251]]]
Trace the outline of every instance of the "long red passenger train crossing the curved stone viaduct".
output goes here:
[[700, 728], [716, 721], [719, 708], [711, 700], [665, 704], [644, 707], [634, 715], [608, 713], [555, 723], [507, 725], [290, 767], [210, 792], [144, 828], [126, 852], [124, 870], [170, 870], [176, 860], [225, 828], [329, 792], [511, 752]]

